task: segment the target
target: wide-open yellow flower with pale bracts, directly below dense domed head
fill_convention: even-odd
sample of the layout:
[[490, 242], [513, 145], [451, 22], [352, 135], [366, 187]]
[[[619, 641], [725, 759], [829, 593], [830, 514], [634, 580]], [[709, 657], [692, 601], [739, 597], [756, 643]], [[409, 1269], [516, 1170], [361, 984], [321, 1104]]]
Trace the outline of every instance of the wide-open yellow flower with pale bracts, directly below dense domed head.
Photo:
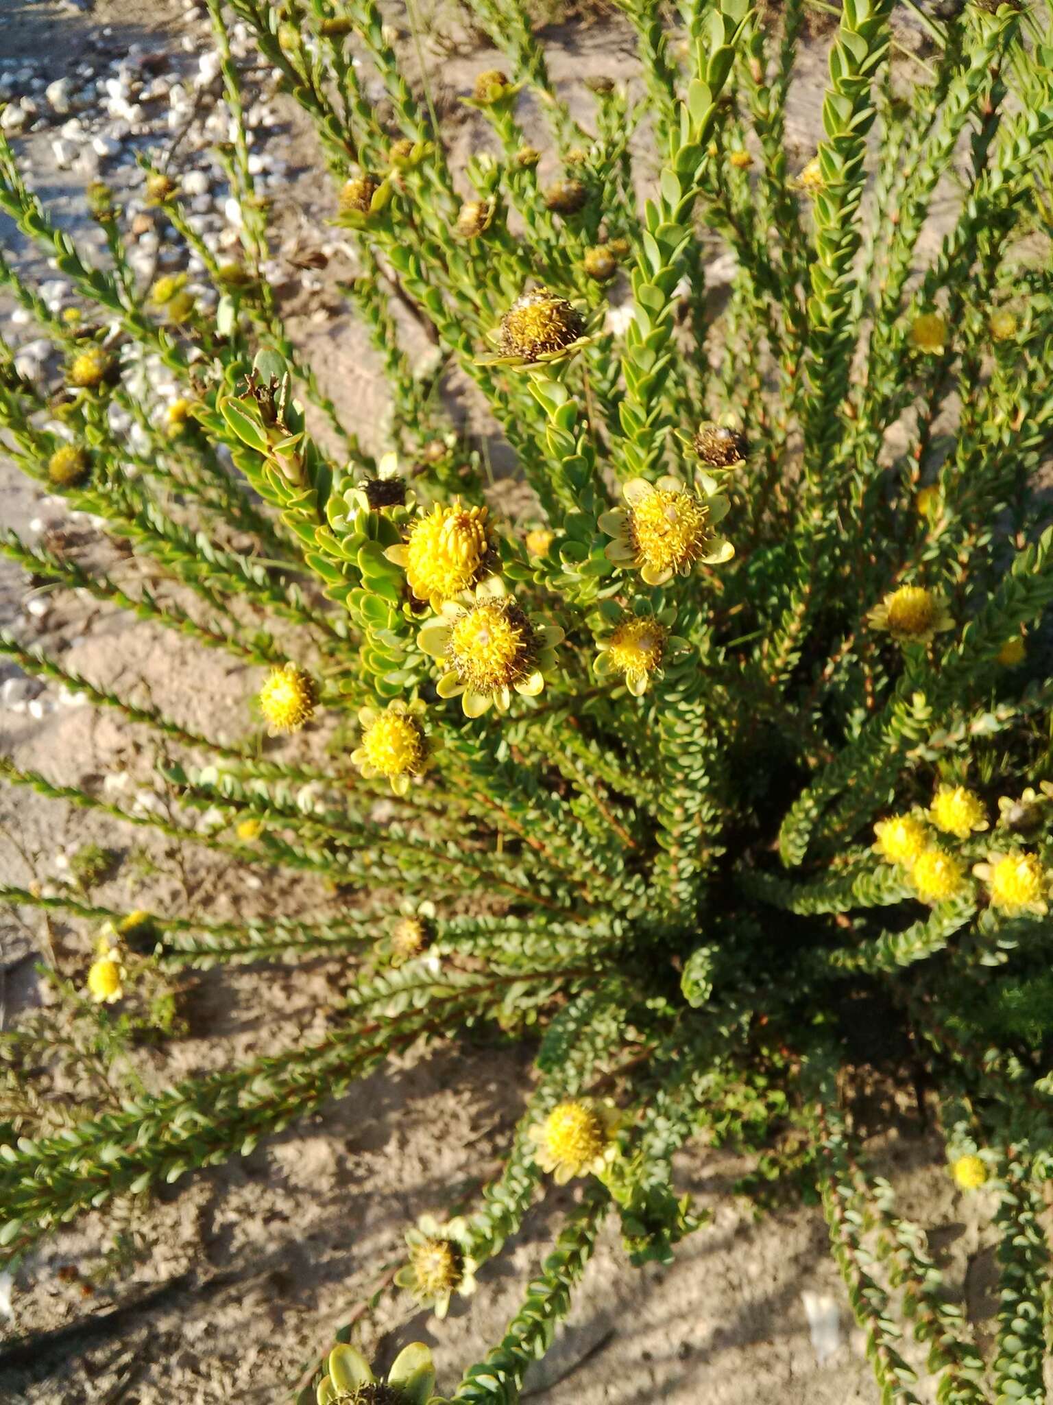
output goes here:
[[557, 625], [531, 618], [504, 596], [482, 596], [466, 610], [444, 606], [442, 618], [417, 635], [420, 648], [446, 667], [439, 697], [461, 697], [468, 717], [480, 717], [491, 704], [504, 712], [512, 691], [536, 697], [562, 639]]

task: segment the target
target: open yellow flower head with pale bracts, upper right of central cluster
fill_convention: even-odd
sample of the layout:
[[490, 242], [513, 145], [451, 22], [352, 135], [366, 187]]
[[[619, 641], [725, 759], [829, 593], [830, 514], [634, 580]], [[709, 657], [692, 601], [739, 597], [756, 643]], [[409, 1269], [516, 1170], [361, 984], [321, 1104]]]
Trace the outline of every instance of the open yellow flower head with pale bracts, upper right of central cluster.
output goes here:
[[614, 537], [607, 555], [616, 565], [635, 566], [649, 586], [687, 576], [699, 562], [716, 565], [734, 555], [730, 541], [713, 534], [727, 513], [726, 497], [695, 492], [675, 478], [657, 483], [632, 478], [622, 495], [628, 509], [600, 518], [601, 531]]

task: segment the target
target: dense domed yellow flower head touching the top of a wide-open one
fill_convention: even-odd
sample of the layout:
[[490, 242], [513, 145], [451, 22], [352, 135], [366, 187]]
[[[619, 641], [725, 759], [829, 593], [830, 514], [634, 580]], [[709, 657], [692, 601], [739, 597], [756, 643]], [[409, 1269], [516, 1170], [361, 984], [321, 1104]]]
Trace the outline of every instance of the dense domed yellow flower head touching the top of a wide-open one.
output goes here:
[[418, 517], [406, 542], [385, 555], [406, 568], [410, 590], [432, 610], [477, 586], [498, 565], [487, 509], [463, 507], [459, 499]]

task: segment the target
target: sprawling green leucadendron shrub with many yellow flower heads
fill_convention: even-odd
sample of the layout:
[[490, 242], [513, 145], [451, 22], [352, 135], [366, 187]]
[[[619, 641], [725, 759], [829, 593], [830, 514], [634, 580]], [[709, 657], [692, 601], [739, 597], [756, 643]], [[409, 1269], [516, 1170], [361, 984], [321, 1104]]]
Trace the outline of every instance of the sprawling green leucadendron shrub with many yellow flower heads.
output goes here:
[[[677, 1193], [675, 1154], [737, 1128], [767, 1182], [819, 1187], [882, 1399], [1039, 1405], [1050, 8], [969, 0], [938, 21], [910, 4], [918, 56], [892, 0], [844, 0], [817, 149], [795, 152], [800, 0], [619, 3], [639, 80], [571, 96], [515, 0], [472, 0], [498, 52], [463, 94], [486, 135], [453, 169], [372, 0], [212, 0], [237, 260], [201, 243], [176, 176], [145, 176], [212, 305], [178, 277], [136, 285], [104, 187], [90, 200], [111, 259], [88, 261], [0, 148], [0, 207], [83, 302], [56, 316], [3, 266], [65, 361], [45, 391], [3, 353], [6, 452], [159, 583], [119, 584], [11, 532], [4, 554], [258, 666], [272, 735], [327, 714], [348, 739], [322, 759], [258, 735], [219, 745], [4, 636], [22, 669], [153, 726], [181, 760], [164, 766], [163, 815], [10, 759], [3, 777], [246, 873], [357, 891], [338, 922], [136, 915], [163, 969], [338, 951], [347, 995], [320, 1044], [13, 1137], [3, 1255], [247, 1152], [393, 1055], [489, 1027], [534, 1052], [504, 1169], [456, 1218], [438, 1205], [407, 1227], [388, 1286], [407, 1315], [411, 1295], [441, 1318], [486, 1291], [546, 1187], [580, 1193], [507, 1335], [449, 1399], [518, 1399], [605, 1217], [635, 1263], [667, 1260], [703, 1218]], [[331, 221], [358, 251], [348, 295], [392, 402], [376, 459], [281, 320], [233, 21], [314, 122]], [[706, 285], [717, 256], [726, 296]], [[416, 374], [396, 291], [434, 330], [441, 375], [507, 438], [526, 513], [504, 510], [434, 374]], [[135, 452], [115, 427], [129, 420]], [[236, 549], [233, 530], [254, 545]], [[84, 978], [119, 1007], [124, 913], [6, 896], [107, 923]], [[987, 1360], [868, 1168], [863, 1066], [924, 1087], [949, 1172], [991, 1217]], [[319, 1343], [302, 1401], [431, 1394], [424, 1349], [376, 1380], [348, 1335]]]

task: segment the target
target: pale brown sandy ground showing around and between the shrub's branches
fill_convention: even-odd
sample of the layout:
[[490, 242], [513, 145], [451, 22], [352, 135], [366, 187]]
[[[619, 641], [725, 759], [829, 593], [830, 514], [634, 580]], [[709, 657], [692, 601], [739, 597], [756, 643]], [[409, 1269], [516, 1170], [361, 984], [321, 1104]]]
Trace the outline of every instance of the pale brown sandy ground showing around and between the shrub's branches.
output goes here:
[[[584, 72], [630, 72], [630, 48], [618, 27], [552, 38], [560, 83]], [[100, 0], [91, 13], [55, 0], [0, 0], [0, 53], [8, 60], [0, 76], [28, 59], [51, 79], [100, 48], [112, 56], [135, 42], [176, 56], [190, 51], [184, 62], [192, 62], [205, 31], [159, 0]], [[442, 65], [442, 81], [463, 91], [466, 76], [489, 63], [484, 51], [468, 52]], [[820, 70], [821, 56], [812, 52], [792, 105], [802, 148], [814, 121], [809, 104]], [[305, 174], [309, 139], [293, 119], [272, 139], [284, 143], [292, 167], [292, 184], [278, 202], [282, 226], [320, 242], [327, 237], [324, 192]], [[469, 125], [463, 143], [472, 140]], [[67, 194], [80, 184], [77, 177], [48, 167], [46, 133], [31, 135], [27, 148], [38, 163], [38, 185], [74, 218]], [[303, 299], [292, 326], [312, 346], [337, 402], [358, 424], [382, 424], [376, 365], [324, 289]], [[10, 466], [0, 465], [0, 493], [7, 525], [24, 530], [41, 511], [32, 486]], [[22, 636], [32, 632], [90, 677], [119, 679], [122, 686], [147, 680], [156, 701], [191, 725], [229, 736], [250, 726], [251, 670], [69, 597], [31, 620], [28, 600], [18, 572], [0, 573], [0, 624]], [[10, 672], [0, 670], [0, 679]], [[56, 708], [39, 718], [6, 712], [0, 745], [20, 764], [67, 780], [122, 770], [129, 784], [145, 784], [152, 760], [142, 733], [90, 710]], [[46, 878], [58, 854], [94, 839], [122, 846], [125, 860], [112, 882], [95, 889], [100, 902], [220, 919], [278, 909], [319, 915], [334, 902], [310, 885], [282, 885], [265, 871], [251, 878], [256, 887], [239, 878], [234, 888], [233, 877], [201, 854], [181, 867], [164, 843], [142, 832], [118, 833], [25, 792], [0, 794], [0, 875], [7, 881], [24, 882], [31, 871]], [[133, 846], [145, 846], [157, 865], [149, 878], [135, 877]], [[51, 937], [60, 968], [83, 969], [91, 933], [55, 922]], [[35, 999], [32, 960], [41, 940], [37, 919], [0, 917], [0, 996], [8, 1019]], [[146, 1052], [143, 1073], [168, 1082], [310, 1037], [324, 1027], [326, 1007], [344, 978], [338, 962], [319, 960], [191, 976], [183, 993], [190, 1033]], [[494, 1169], [528, 1090], [526, 1064], [525, 1054], [466, 1043], [417, 1066], [389, 1068], [244, 1159], [188, 1177], [149, 1205], [79, 1221], [18, 1273], [13, 1316], [0, 1316], [0, 1401], [284, 1399], [331, 1328], [397, 1257], [407, 1222], [469, 1194], [477, 1177]], [[929, 1228], [952, 1288], [986, 1339], [995, 1309], [990, 1235], [983, 1228], [990, 1205], [983, 1196], [963, 1200], [953, 1190], [938, 1146], [910, 1118], [875, 1151], [900, 1186], [903, 1211]], [[630, 1270], [614, 1235], [605, 1235], [570, 1325], [528, 1383], [531, 1398], [550, 1405], [878, 1401], [821, 1215], [814, 1208], [783, 1210], [755, 1222], [751, 1207], [731, 1193], [744, 1168], [736, 1156], [705, 1146], [681, 1158], [682, 1187], [713, 1218], [670, 1269]], [[459, 1370], [500, 1336], [517, 1309], [570, 1194], [555, 1191], [532, 1213], [505, 1255], [484, 1270], [482, 1291], [469, 1305], [456, 1305], [446, 1324], [414, 1315], [404, 1297], [386, 1297], [364, 1321], [364, 1347], [383, 1366], [407, 1340], [427, 1340], [441, 1383], [452, 1388]], [[86, 1295], [86, 1280], [119, 1229], [138, 1236], [142, 1253]], [[841, 1345], [823, 1364], [809, 1335], [806, 1293], [831, 1297], [840, 1309]]]

